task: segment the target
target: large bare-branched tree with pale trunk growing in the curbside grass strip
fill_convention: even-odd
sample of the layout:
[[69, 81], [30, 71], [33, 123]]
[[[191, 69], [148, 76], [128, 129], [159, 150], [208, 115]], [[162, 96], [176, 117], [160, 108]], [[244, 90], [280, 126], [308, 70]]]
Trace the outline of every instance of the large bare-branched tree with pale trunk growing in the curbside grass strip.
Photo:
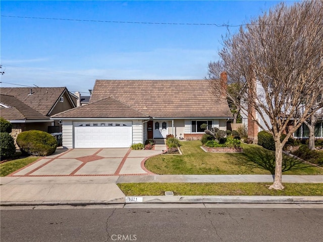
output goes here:
[[282, 150], [288, 138], [323, 106], [322, 100], [317, 102], [323, 93], [322, 39], [322, 1], [291, 7], [281, 3], [223, 39], [221, 62], [242, 88], [231, 99], [238, 96], [254, 109], [258, 115], [251, 115], [254, 122], [275, 140], [275, 179], [270, 189], [284, 189]]

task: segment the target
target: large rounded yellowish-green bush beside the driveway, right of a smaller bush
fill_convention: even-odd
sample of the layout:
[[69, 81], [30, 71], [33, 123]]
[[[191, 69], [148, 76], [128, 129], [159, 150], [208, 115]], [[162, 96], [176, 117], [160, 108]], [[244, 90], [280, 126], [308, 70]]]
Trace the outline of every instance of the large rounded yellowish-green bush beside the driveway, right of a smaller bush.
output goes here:
[[55, 152], [57, 141], [46, 132], [29, 130], [17, 136], [17, 145], [22, 153], [34, 156], [46, 156]]

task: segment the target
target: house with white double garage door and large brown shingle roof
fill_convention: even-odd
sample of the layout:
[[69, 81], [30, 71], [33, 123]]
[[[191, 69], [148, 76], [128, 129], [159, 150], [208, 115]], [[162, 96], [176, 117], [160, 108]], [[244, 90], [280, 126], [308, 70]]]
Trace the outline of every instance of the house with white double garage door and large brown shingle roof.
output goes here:
[[231, 117], [226, 95], [214, 95], [208, 80], [96, 80], [89, 104], [52, 119], [63, 122], [63, 146], [98, 148], [168, 134], [198, 139], [202, 124], [226, 130]]

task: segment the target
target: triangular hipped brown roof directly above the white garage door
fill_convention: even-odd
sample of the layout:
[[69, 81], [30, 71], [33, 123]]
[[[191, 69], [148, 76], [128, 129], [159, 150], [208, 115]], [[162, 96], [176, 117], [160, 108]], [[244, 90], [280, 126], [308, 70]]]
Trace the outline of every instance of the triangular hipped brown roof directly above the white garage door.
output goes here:
[[147, 114], [122, 103], [114, 97], [107, 97], [96, 102], [91, 102], [56, 115], [59, 118], [138, 118], [148, 117]]

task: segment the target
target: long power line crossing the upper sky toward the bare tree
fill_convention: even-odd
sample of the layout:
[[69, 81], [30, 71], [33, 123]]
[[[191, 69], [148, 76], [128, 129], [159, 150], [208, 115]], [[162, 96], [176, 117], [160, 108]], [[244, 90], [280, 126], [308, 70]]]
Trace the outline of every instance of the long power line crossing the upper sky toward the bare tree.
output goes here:
[[253, 24], [202, 24], [202, 23], [160, 23], [160, 22], [132, 22], [132, 21], [106, 21], [106, 20], [85, 20], [85, 19], [62, 19], [62, 18], [42, 18], [42, 17], [27, 17], [27, 16], [9, 16], [1, 15], [1, 17], [8, 18], [24, 18], [24, 19], [46, 19], [46, 20], [63, 20], [63, 21], [79, 21], [79, 22], [100, 22], [100, 23], [118, 23], [118, 24], [158, 24], [158, 25], [206, 25], [206, 26], [216, 26], [216, 27], [240, 27]]

